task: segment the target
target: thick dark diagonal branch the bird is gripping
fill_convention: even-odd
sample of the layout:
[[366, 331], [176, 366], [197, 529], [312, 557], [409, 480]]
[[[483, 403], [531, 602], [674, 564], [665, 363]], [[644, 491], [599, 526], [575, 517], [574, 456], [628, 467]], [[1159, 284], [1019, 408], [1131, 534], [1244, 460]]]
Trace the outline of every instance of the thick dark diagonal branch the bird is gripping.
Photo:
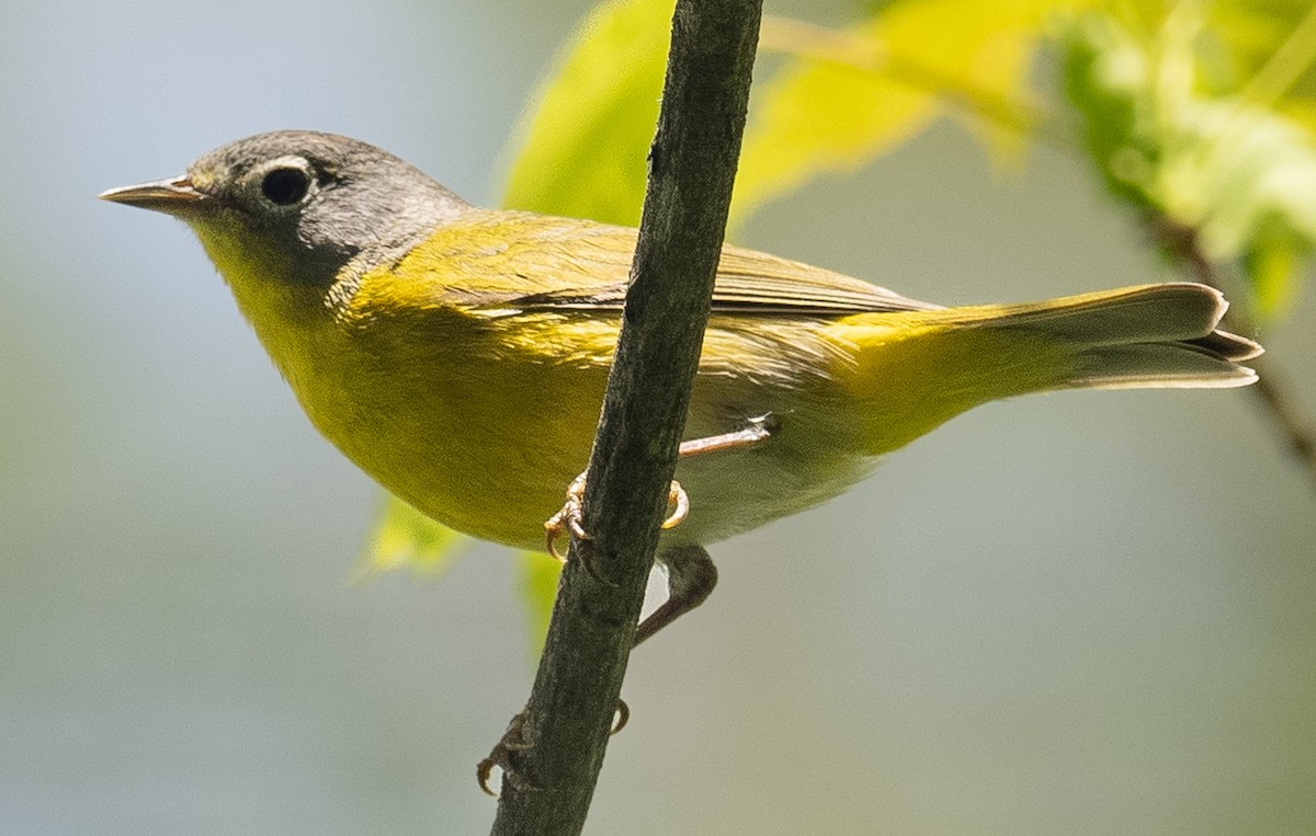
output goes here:
[[[678, 0], [621, 335], [494, 833], [579, 833], [653, 567], [740, 155], [761, 0]], [[597, 577], [595, 577], [597, 576]], [[600, 580], [601, 578], [601, 580]]]

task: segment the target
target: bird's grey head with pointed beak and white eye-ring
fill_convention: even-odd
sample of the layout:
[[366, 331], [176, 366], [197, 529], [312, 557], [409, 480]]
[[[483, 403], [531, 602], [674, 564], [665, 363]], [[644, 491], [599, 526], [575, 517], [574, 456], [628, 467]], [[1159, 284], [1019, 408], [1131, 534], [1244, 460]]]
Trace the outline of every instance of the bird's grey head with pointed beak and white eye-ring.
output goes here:
[[101, 197], [190, 222], [212, 256], [216, 239], [259, 247], [270, 267], [287, 266], [276, 272], [321, 287], [358, 254], [405, 251], [467, 208], [387, 151], [304, 130], [238, 139], [199, 158], [182, 177]]

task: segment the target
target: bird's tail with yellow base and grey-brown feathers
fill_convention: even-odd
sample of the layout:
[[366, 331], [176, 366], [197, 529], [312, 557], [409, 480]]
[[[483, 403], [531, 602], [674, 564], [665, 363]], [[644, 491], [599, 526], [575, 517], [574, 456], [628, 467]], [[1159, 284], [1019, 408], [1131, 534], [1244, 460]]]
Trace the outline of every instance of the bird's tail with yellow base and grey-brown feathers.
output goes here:
[[1158, 284], [1023, 305], [859, 314], [832, 330], [867, 450], [903, 447], [998, 398], [1075, 388], [1245, 386], [1261, 346], [1216, 326], [1227, 302], [1202, 284]]

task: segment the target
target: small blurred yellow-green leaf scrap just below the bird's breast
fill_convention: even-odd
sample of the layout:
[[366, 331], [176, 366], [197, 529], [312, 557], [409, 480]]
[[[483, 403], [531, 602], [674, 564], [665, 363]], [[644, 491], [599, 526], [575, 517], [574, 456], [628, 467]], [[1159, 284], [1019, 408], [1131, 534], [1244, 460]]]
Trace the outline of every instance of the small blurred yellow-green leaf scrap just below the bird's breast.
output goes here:
[[437, 577], [468, 544], [470, 538], [465, 534], [441, 526], [397, 497], [386, 494], [384, 510], [351, 580], [363, 581], [404, 567]]

